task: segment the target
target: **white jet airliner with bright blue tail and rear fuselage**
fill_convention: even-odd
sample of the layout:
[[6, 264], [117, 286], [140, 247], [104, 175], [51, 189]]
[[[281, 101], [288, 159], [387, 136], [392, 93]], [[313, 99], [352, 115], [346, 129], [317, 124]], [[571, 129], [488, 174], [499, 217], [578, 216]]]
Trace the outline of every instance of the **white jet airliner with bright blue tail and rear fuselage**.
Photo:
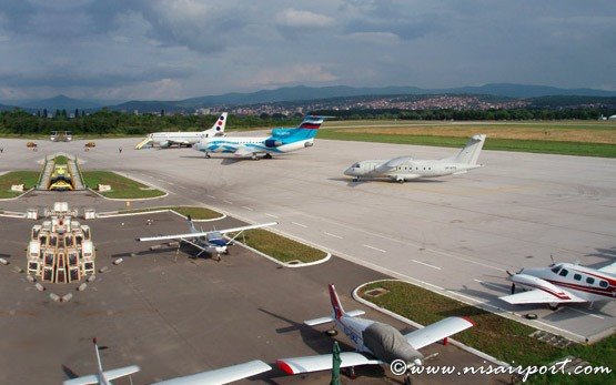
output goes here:
[[306, 115], [299, 126], [273, 129], [270, 136], [205, 138], [193, 145], [193, 149], [204, 152], [205, 158], [210, 158], [212, 153], [226, 153], [253, 160], [259, 156], [271, 159], [273, 154], [312, 146], [324, 118], [329, 116]]

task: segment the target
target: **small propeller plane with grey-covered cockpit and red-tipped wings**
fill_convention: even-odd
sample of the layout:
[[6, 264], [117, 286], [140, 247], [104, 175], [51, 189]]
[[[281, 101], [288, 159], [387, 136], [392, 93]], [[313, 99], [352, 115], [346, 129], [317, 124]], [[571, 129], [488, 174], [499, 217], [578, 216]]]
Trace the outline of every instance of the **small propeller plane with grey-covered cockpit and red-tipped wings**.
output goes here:
[[[304, 321], [309, 326], [334, 322], [355, 346], [355, 352], [343, 352], [341, 367], [359, 365], [383, 365], [402, 359], [407, 366], [422, 365], [423, 354], [417, 349], [437, 341], [446, 341], [453, 334], [462, 332], [474, 324], [462, 317], [447, 317], [406, 335], [391, 325], [376, 321], [359, 318], [363, 311], [346, 313], [340, 303], [334, 285], [329, 285], [332, 302], [332, 315]], [[332, 368], [332, 355], [314, 355], [277, 359], [277, 366], [287, 374], [327, 371]]]

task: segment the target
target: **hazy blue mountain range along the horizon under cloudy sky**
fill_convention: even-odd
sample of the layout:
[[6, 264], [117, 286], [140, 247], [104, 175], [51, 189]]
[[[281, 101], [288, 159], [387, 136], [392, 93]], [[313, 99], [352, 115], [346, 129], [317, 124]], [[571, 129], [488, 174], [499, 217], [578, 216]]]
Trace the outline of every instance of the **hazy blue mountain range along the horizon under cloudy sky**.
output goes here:
[[[196, 108], [208, 107], [232, 107], [272, 102], [292, 102], [315, 99], [366, 97], [366, 95], [397, 95], [397, 94], [483, 94], [514, 99], [529, 99], [553, 95], [577, 95], [577, 97], [616, 97], [616, 91], [604, 91], [594, 89], [561, 89], [548, 85], [529, 85], [512, 83], [492, 83], [478, 87], [460, 87], [448, 89], [422, 89], [417, 87], [380, 87], [356, 88], [347, 85], [332, 87], [284, 87], [275, 90], [261, 90], [256, 92], [232, 92], [219, 95], [190, 98], [176, 101], [140, 101], [133, 100], [120, 104], [110, 105], [109, 101], [80, 100], [65, 95], [57, 95], [49, 99], [34, 100], [17, 103], [18, 107], [28, 111], [48, 109], [52, 112], [58, 110], [73, 111], [97, 110], [108, 107], [115, 111], [152, 112], [152, 111], [190, 111]], [[12, 109], [10, 105], [0, 104], [0, 110]]]

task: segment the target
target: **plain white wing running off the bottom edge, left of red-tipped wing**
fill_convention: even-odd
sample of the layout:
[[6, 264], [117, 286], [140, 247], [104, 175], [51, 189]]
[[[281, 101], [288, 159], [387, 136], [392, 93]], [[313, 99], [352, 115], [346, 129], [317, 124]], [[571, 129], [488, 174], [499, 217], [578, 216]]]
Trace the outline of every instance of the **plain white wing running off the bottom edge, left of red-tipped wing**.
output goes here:
[[184, 377], [171, 378], [156, 385], [201, 385], [201, 384], [228, 384], [240, 381], [263, 372], [272, 367], [262, 361], [255, 359], [243, 364], [238, 364], [220, 369], [206, 371]]

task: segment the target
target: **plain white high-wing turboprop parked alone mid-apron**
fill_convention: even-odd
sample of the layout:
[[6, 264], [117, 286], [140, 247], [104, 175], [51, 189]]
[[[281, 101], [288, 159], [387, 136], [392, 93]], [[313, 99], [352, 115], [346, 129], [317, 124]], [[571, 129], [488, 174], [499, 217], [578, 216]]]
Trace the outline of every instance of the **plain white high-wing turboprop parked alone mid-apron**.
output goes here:
[[418, 178], [464, 174], [482, 166], [482, 164], [477, 164], [477, 159], [484, 142], [485, 135], [473, 135], [456, 156], [441, 160], [400, 156], [391, 160], [360, 161], [346, 169], [344, 174], [353, 176], [353, 182], [357, 182], [360, 178], [387, 178], [400, 183]]

